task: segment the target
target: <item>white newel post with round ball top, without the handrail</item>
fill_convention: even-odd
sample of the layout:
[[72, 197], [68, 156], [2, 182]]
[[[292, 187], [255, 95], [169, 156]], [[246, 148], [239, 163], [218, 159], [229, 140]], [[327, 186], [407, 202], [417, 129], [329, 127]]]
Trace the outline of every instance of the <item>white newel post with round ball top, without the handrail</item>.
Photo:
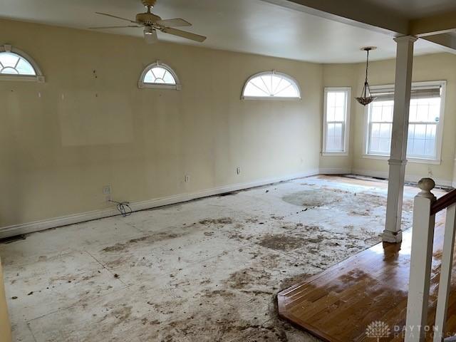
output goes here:
[[405, 342], [424, 341], [427, 326], [432, 244], [434, 242], [435, 215], [430, 214], [435, 196], [431, 190], [435, 182], [423, 178], [418, 182], [421, 192], [413, 204], [412, 251], [408, 285]]

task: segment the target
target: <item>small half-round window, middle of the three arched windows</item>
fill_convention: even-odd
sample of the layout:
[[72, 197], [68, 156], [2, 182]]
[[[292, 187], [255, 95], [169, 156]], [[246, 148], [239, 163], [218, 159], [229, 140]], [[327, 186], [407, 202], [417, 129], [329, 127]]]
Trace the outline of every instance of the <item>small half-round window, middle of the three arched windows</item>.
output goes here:
[[150, 64], [142, 71], [138, 85], [140, 88], [180, 89], [176, 73], [160, 61]]

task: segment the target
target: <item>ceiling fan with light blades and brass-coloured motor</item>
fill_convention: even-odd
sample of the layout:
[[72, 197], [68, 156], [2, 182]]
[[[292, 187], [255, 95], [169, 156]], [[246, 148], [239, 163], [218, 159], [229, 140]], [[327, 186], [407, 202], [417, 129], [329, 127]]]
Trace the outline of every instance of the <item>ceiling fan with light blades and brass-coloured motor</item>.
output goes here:
[[128, 25], [128, 26], [99, 26], [99, 27], [90, 27], [92, 30], [103, 30], [105, 28], [128, 28], [128, 27], [143, 27], [144, 28], [144, 38], [146, 43], [152, 44], [158, 40], [157, 31], [161, 31], [163, 33], [172, 34], [173, 36], [179, 36], [182, 38], [187, 38], [192, 41], [198, 41], [202, 43], [206, 40], [206, 37], [199, 36], [199, 34], [190, 33], [187, 31], [178, 30], [175, 27], [178, 26], [192, 26], [188, 21], [184, 19], [165, 19], [162, 20], [160, 16], [157, 16], [150, 12], [150, 9], [155, 6], [157, 0], [141, 0], [142, 4], [147, 7], [147, 12], [136, 14], [135, 20], [122, 18], [120, 16], [113, 16], [112, 14], [95, 12], [95, 14], [100, 14], [102, 16], [110, 16], [116, 19], [121, 19], [125, 21], [129, 21], [131, 24], [135, 25]]

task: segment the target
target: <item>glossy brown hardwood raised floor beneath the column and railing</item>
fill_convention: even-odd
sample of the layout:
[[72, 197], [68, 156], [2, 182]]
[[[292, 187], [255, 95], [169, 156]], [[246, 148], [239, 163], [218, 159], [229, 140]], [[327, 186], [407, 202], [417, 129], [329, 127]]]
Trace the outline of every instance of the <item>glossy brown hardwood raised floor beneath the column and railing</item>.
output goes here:
[[[437, 299], [444, 214], [437, 215], [432, 261], [430, 319]], [[377, 341], [366, 336], [373, 321], [383, 321], [391, 334], [380, 341], [403, 341], [407, 306], [411, 232], [402, 244], [377, 244], [332, 266], [303, 284], [278, 295], [279, 316], [323, 341]], [[456, 259], [456, 258], [455, 258]], [[456, 335], [456, 267], [453, 264], [447, 333]], [[431, 333], [427, 341], [431, 341]]]

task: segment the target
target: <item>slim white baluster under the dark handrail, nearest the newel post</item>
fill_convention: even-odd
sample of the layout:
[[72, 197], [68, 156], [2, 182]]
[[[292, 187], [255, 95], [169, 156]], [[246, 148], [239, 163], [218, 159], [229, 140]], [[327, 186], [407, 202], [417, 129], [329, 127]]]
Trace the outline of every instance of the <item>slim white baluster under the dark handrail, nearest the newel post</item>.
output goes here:
[[451, 286], [453, 248], [455, 246], [455, 230], [456, 204], [452, 204], [447, 208], [447, 218], [445, 220], [439, 294], [437, 296], [437, 310], [435, 314], [434, 342], [441, 342], [445, 334], [445, 321], [447, 321], [448, 297]]

